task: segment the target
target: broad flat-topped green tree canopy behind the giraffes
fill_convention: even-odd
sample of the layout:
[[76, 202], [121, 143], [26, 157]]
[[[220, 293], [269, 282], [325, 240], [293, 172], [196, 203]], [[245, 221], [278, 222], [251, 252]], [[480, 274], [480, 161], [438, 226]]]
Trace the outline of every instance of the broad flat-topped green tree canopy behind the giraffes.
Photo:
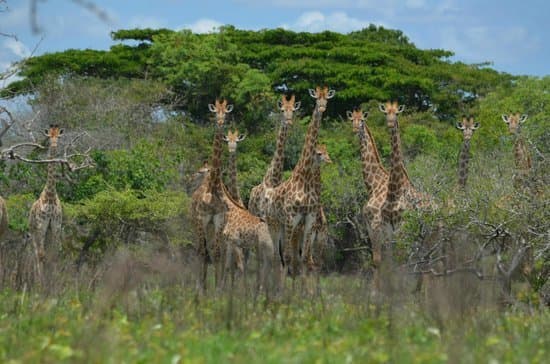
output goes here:
[[449, 119], [513, 79], [486, 63], [452, 62], [450, 51], [419, 49], [401, 31], [374, 25], [349, 34], [233, 26], [210, 34], [134, 29], [113, 32], [112, 38], [125, 43], [109, 51], [67, 50], [30, 59], [22, 65], [22, 79], [6, 88], [4, 96], [31, 92], [31, 85], [52, 72], [152, 77], [176, 92], [182, 110], [204, 115], [208, 103], [225, 97], [236, 104], [236, 118], [256, 126], [277, 92], [295, 93], [311, 109], [307, 89], [328, 85], [337, 90], [338, 102], [328, 111], [333, 115], [372, 99], [398, 99]]

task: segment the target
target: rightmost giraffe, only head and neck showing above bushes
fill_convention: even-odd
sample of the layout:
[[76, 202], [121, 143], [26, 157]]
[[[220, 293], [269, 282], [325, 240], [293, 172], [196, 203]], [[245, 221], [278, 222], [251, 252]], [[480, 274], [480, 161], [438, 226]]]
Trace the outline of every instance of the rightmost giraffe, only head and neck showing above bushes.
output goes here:
[[508, 125], [508, 131], [514, 138], [514, 160], [516, 164], [514, 185], [519, 188], [526, 182], [531, 172], [531, 155], [525, 144], [525, 139], [521, 135], [521, 125], [527, 120], [527, 115], [520, 115], [520, 113], [503, 114], [502, 120]]

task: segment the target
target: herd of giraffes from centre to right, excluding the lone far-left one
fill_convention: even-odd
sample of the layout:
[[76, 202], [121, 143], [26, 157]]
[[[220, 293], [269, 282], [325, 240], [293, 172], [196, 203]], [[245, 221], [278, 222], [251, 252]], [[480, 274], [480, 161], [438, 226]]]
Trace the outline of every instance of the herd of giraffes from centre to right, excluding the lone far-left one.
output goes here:
[[[293, 277], [315, 269], [314, 251], [321, 249], [328, 238], [328, 228], [320, 201], [320, 167], [331, 163], [326, 146], [318, 144], [319, 129], [327, 102], [335, 92], [327, 87], [310, 89], [316, 100], [304, 145], [296, 166], [283, 181], [285, 143], [292, 125], [294, 112], [300, 103], [294, 95], [282, 96], [279, 101], [281, 121], [276, 148], [262, 182], [253, 187], [248, 209], [244, 207], [237, 186], [236, 147], [244, 139], [238, 132], [223, 133], [225, 116], [232, 107], [227, 101], [216, 100], [209, 105], [216, 113], [216, 133], [211, 165], [206, 163], [198, 172], [200, 186], [193, 193], [192, 216], [197, 232], [196, 250], [200, 260], [201, 289], [206, 287], [207, 266], [215, 270], [215, 282], [223, 286], [227, 274], [233, 277], [235, 268], [246, 268], [246, 256], [255, 251], [258, 261], [258, 288], [280, 285], [287, 272]], [[360, 109], [348, 111], [353, 130], [359, 136], [360, 157], [368, 200], [363, 208], [369, 238], [373, 247], [374, 287], [380, 285], [380, 264], [383, 247], [398, 227], [402, 213], [410, 209], [434, 208], [432, 198], [418, 191], [411, 183], [404, 165], [397, 116], [404, 110], [397, 102], [380, 105], [391, 133], [391, 159], [389, 172], [382, 164], [374, 138], [367, 126], [368, 113]], [[515, 155], [518, 169], [528, 173], [530, 161], [526, 157], [519, 124], [527, 118], [519, 114], [503, 115], [510, 131], [516, 135]], [[470, 139], [479, 123], [464, 118], [457, 123], [463, 131], [463, 146], [459, 157], [459, 186], [464, 188], [470, 158]], [[221, 178], [222, 140], [229, 150], [230, 182], [226, 187]], [[526, 161], [529, 165], [526, 167]], [[520, 168], [521, 166], [521, 168]], [[388, 233], [390, 235], [388, 235]], [[318, 256], [318, 254], [317, 254]], [[233, 278], [231, 278], [233, 279]]]

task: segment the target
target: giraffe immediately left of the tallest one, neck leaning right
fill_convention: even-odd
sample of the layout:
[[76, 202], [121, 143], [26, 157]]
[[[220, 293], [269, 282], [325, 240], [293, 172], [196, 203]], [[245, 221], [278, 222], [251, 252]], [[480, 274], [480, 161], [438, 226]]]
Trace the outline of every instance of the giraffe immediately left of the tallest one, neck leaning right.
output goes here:
[[283, 95], [278, 102], [279, 110], [281, 110], [281, 125], [277, 135], [277, 145], [271, 164], [267, 169], [262, 183], [252, 188], [250, 198], [248, 200], [248, 209], [256, 216], [265, 216], [266, 211], [266, 189], [275, 187], [281, 183], [283, 179], [283, 162], [285, 142], [288, 136], [288, 129], [292, 125], [294, 112], [300, 108], [300, 102], [296, 102], [294, 95], [290, 100]]

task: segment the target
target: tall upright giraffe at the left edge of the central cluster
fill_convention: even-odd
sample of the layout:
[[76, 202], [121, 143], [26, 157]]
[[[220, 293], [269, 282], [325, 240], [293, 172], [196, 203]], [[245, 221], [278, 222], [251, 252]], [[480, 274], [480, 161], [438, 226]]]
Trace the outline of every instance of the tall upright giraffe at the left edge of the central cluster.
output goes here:
[[227, 205], [224, 202], [223, 183], [221, 180], [221, 154], [223, 126], [226, 114], [233, 110], [227, 100], [216, 100], [208, 109], [215, 113], [215, 135], [212, 147], [211, 168], [200, 186], [193, 192], [191, 212], [197, 234], [196, 251], [199, 258], [199, 280], [201, 290], [206, 289], [207, 264], [210, 260], [214, 265], [216, 285], [220, 283], [223, 273], [222, 264], [222, 232], [225, 224]]

